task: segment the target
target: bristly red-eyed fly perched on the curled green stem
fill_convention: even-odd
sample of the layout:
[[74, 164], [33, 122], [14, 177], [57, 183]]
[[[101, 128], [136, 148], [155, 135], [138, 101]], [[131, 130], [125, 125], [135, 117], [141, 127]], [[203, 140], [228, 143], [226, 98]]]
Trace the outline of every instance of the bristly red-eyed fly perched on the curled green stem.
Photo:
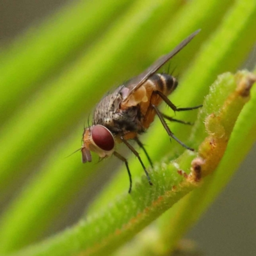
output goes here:
[[[142, 148], [147, 156], [147, 159], [152, 166], [152, 161], [139, 140], [138, 136], [147, 131], [149, 125], [154, 121], [157, 115], [164, 126], [164, 129], [170, 136], [176, 140], [182, 147], [192, 150], [182, 141], [174, 136], [165, 119], [175, 120], [170, 116], [166, 116], [157, 108], [164, 101], [173, 111], [187, 111], [200, 108], [177, 108], [169, 99], [178, 81], [170, 74], [156, 73], [168, 60], [173, 58], [181, 49], [183, 49], [198, 33], [200, 29], [189, 35], [183, 40], [173, 51], [159, 58], [147, 70], [122, 84], [116, 90], [106, 95], [95, 108], [93, 113], [93, 124], [84, 128], [83, 145], [81, 147], [82, 162], [91, 162], [91, 151], [99, 155], [100, 158], [116, 156], [125, 163], [129, 174], [130, 186], [129, 193], [132, 189], [132, 177], [129, 170], [127, 159], [116, 151], [116, 144], [124, 143], [132, 153], [138, 158], [145, 174], [147, 175], [148, 183], [152, 185], [150, 176], [148, 175], [145, 165], [141, 161], [138, 152], [129, 143], [129, 140], [134, 140]], [[185, 122], [182, 122], [185, 123]], [[186, 123], [185, 123], [186, 124]]]

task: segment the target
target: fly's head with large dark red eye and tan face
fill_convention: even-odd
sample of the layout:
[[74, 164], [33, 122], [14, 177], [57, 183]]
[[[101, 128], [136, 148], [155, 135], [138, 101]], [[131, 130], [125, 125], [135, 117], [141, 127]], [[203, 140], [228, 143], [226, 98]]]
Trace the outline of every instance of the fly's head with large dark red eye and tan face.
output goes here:
[[115, 148], [113, 134], [103, 125], [92, 125], [84, 129], [83, 145], [81, 147], [82, 162], [92, 161], [91, 151], [99, 157], [111, 156]]

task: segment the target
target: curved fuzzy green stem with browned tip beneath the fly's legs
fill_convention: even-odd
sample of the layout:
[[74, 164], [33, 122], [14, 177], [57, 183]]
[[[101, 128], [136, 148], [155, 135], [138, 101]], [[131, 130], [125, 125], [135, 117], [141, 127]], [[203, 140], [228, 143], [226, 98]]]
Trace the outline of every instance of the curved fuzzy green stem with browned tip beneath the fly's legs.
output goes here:
[[[246, 73], [239, 76], [244, 77], [244, 81], [247, 81]], [[256, 81], [256, 77], [253, 81]], [[230, 86], [225, 88], [227, 98], [224, 97], [222, 104], [216, 104], [214, 108], [213, 113], [217, 117], [218, 125], [223, 127], [224, 135], [218, 132], [218, 125], [211, 127], [210, 124], [207, 127], [209, 135], [200, 145], [198, 154], [187, 150], [175, 161], [166, 161], [150, 172], [154, 184], [152, 188], [148, 186], [147, 179], [143, 177], [132, 195], [121, 196], [108, 209], [98, 212], [91, 218], [88, 216], [86, 221], [81, 220], [75, 227], [15, 255], [52, 255], [52, 253], [54, 255], [63, 255], [63, 253], [67, 255], [77, 253], [80, 255], [108, 255], [151, 221], [156, 220], [177, 200], [197, 188], [204, 175], [214, 171], [214, 166], [209, 163], [213, 163], [212, 160], [216, 161], [218, 154], [223, 156], [222, 145], [223, 143], [227, 145], [228, 137], [233, 129], [232, 125], [235, 124], [237, 116], [249, 99], [248, 95], [244, 94], [244, 92], [248, 92], [247, 83], [240, 86], [240, 82], [239, 79], [233, 79]], [[252, 82], [249, 85], [252, 86]], [[222, 84], [217, 83], [216, 86], [221, 87]], [[237, 88], [241, 88], [241, 91]], [[225, 92], [222, 91], [223, 94]], [[215, 120], [215, 116], [212, 116], [211, 104], [207, 104], [207, 101], [211, 102], [214, 97], [216, 97], [216, 91], [213, 90], [205, 101], [204, 110], [201, 111], [201, 115], [206, 113], [205, 120], [208, 122], [211, 119]], [[228, 114], [230, 123], [225, 125], [227, 113], [232, 113], [232, 115]], [[204, 123], [201, 122], [201, 125]], [[204, 138], [204, 134], [201, 138]], [[214, 147], [207, 148], [205, 143], [211, 145], [208, 142], [210, 139], [216, 141], [216, 144]], [[201, 171], [198, 172], [198, 167], [195, 164], [199, 163], [200, 157], [204, 156], [207, 157], [205, 161], [202, 159]], [[204, 166], [207, 168], [205, 169]], [[124, 214], [120, 214], [120, 211]]]

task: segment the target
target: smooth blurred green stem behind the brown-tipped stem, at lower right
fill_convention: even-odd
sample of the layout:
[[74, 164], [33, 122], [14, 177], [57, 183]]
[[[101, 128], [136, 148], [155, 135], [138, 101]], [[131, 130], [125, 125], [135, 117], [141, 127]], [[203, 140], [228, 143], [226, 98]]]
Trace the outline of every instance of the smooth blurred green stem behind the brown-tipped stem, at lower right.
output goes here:
[[216, 172], [206, 177], [204, 184], [200, 188], [180, 200], [178, 204], [173, 206], [171, 211], [159, 219], [159, 237], [161, 237], [160, 240], [163, 243], [163, 255], [170, 253], [175, 248], [179, 239], [184, 236], [188, 228], [198, 220], [228, 183], [239, 164], [252, 148], [256, 140], [256, 134], [253, 132], [256, 127], [256, 121], [252, 118], [252, 113], [256, 108], [255, 86], [252, 88], [251, 93], [252, 99], [244, 106], [237, 119], [227, 150]]

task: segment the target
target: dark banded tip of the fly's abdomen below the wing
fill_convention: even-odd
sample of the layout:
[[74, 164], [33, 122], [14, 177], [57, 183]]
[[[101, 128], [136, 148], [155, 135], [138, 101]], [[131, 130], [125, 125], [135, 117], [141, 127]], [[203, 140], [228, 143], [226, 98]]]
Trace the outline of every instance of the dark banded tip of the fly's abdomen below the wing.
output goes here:
[[178, 85], [177, 79], [169, 74], [154, 74], [148, 81], [154, 86], [154, 91], [162, 92], [164, 95], [172, 93]]

